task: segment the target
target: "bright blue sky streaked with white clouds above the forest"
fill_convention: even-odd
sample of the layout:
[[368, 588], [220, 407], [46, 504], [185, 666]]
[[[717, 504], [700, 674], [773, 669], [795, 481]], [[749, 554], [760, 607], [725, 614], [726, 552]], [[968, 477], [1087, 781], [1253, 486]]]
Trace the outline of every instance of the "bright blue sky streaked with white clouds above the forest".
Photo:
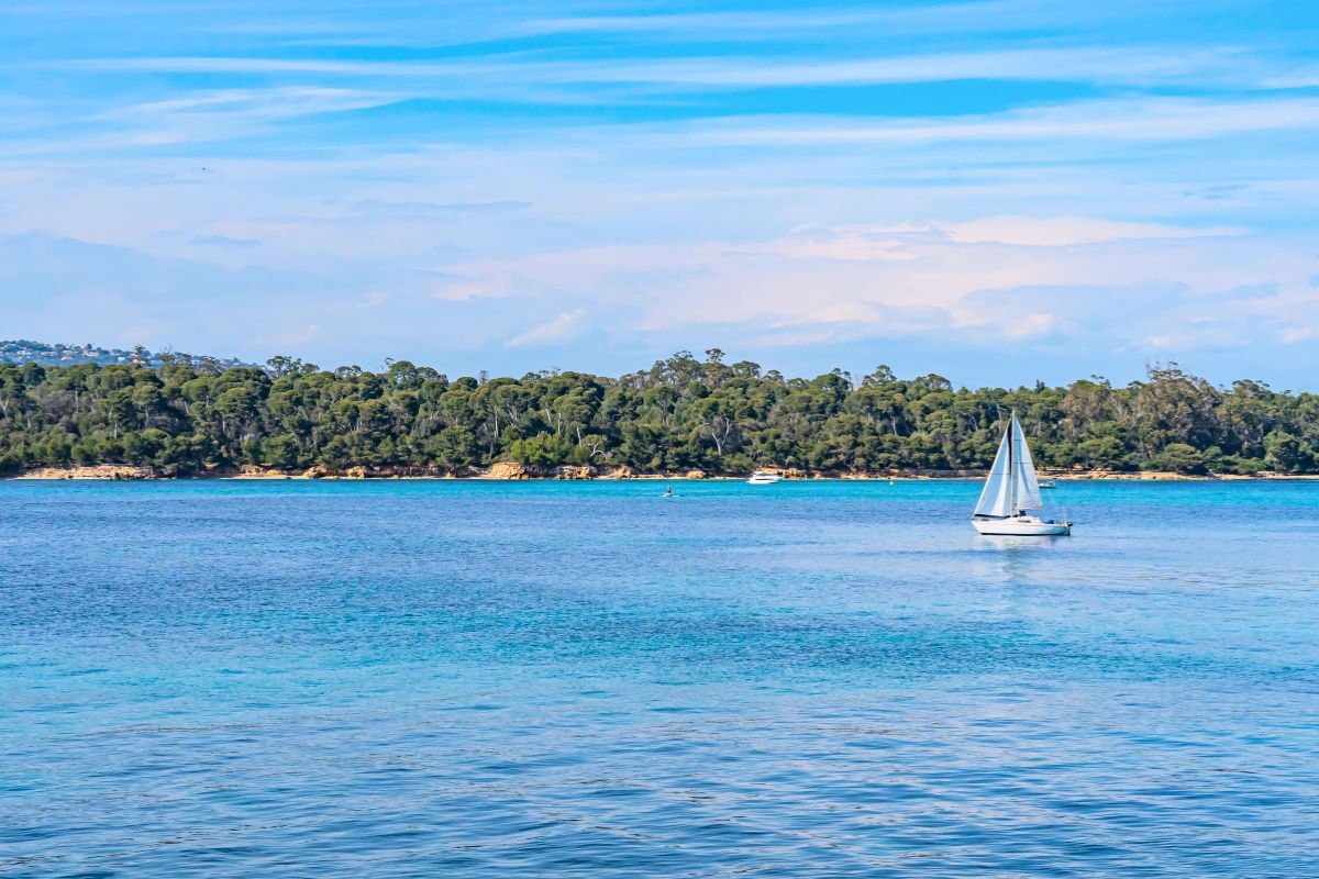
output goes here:
[[0, 336], [1319, 390], [1319, 5], [0, 0]]

